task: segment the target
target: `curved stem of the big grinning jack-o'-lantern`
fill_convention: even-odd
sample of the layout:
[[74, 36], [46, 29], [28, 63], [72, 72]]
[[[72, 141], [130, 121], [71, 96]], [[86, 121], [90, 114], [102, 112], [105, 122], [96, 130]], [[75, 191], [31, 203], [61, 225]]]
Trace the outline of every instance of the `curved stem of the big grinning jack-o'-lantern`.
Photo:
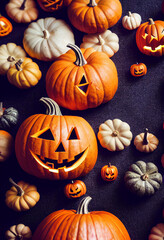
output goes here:
[[54, 100], [52, 100], [51, 98], [42, 97], [40, 101], [43, 102], [44, 105], [47, 107], [47, 115], [62, 116], [59, 105]]

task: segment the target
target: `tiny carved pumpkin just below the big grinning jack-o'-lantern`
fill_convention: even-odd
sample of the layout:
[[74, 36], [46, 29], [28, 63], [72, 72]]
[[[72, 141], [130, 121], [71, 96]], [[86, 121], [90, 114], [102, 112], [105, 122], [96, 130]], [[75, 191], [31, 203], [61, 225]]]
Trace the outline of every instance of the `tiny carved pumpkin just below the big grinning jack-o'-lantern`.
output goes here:
[[81, 180], [72, 181], [64, 187], [64, 194], [67, 198], [79, 198], [86, 194], [86, 185]]

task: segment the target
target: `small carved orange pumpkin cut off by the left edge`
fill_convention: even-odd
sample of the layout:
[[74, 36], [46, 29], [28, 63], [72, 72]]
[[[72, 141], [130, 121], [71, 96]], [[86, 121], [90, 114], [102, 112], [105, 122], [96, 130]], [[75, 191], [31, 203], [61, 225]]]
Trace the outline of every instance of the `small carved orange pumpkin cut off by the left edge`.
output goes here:
[[0, 14], [0, 37], [8, 35], [12, 30], [11, 22]]

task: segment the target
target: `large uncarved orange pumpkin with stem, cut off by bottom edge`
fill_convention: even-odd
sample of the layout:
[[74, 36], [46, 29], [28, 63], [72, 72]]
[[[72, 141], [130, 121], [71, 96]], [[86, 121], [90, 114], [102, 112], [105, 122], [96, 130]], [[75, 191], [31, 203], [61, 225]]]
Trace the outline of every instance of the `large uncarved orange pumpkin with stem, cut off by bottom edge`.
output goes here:
[[33, 240], [130, 240], [123, 223], [106, 211], [88, 212], [91, 197], [82, 199], [77, 211], [59, 210], [48, 215], [37, 227]]

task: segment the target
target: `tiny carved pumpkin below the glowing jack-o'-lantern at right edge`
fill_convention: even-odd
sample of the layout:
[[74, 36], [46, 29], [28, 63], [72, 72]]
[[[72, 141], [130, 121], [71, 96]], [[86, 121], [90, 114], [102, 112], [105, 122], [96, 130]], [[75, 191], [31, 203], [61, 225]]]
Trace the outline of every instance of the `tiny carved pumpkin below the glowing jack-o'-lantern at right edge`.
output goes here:
[[147, 73], [147, 67], [144, 63], [136, 63], [133, 64], [130, 67], [130, 73], [132, 74], [132, 76], [134, 77], [141, 77], [143, 75], [146, 75]]

